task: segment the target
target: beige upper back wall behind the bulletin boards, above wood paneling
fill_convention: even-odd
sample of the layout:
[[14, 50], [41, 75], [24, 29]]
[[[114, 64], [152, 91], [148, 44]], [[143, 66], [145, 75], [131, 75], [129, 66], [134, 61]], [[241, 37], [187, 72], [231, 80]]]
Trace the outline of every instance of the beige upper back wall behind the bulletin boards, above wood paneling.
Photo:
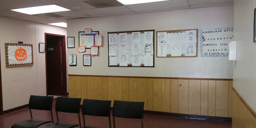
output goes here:
[[[200, 38], [198, 36], [198, 57], [156, 58], [155, 67], [108, 67], [108, 32], [132, 30], [176, 30], [197, 28], [233, 27], [233, 6], [206, 7], [166, 12], [83, 18], [67, 20], [68, 36], [75, 37], [78, 46], [78, 32], [92, 28], [103, 35], [103, 47], [98, 56], [92, 56], [92, 66], [84, 67], [83, 54], [77, 48], [68, 49], [68, 54], [77, 54], [77, 66], [68, 66], [68, 74], [109, 75], [109, 76], [162, 76], [190, 78], [233, 78], [233, 62], [227, 57], [200, 57]], [[156, 32], [155, 32], [156, 43]]]

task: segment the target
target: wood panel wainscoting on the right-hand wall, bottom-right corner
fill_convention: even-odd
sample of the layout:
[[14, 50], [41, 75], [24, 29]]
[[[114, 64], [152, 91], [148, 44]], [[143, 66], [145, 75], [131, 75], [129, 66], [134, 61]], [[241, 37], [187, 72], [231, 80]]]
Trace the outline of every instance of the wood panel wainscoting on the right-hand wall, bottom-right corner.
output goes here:
[[234, 88], [232, 128], [256, 128], [256, 113]]

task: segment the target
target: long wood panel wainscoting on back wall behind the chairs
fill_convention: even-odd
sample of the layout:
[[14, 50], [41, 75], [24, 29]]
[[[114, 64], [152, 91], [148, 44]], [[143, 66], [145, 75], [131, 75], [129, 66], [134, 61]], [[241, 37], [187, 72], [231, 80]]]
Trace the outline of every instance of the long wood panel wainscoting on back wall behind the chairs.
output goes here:
[[[232, 116], [233, 79], [68, 75], [69, 97], [143, 101], [144, 110]], [[82, 104], [82, 103], [81, 103]]]

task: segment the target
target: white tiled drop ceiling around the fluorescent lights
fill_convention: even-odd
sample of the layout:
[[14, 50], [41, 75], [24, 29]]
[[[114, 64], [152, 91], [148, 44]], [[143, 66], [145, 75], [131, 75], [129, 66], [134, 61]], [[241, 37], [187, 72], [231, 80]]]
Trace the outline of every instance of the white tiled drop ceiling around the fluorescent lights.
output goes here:
[[[233, 5], [234, 0], [168, 0], [146, 4], [123, 5], [116, 0], [0, 0], [0, 16], [12, 17], [38, 23], [66, 22], [67, 19], [127, 15], [190, 8]], [[14, 12], [33, 6], [51, 5], [71, 11], [27, 15]]]

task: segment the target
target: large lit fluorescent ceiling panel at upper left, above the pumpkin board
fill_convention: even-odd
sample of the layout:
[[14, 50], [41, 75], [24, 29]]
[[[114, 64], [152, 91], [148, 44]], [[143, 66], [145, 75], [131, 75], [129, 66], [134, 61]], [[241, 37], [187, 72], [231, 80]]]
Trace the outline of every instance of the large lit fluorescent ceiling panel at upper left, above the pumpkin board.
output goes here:
[[29, 7], [29, 8], [12, 9], [12, 11], [33, 15], [33, 14], [61, 12], [61, 11], [70, 11], [70, 10], [57, 5], [45, 5], [45, 6], [37, 6], [37, 7]]

